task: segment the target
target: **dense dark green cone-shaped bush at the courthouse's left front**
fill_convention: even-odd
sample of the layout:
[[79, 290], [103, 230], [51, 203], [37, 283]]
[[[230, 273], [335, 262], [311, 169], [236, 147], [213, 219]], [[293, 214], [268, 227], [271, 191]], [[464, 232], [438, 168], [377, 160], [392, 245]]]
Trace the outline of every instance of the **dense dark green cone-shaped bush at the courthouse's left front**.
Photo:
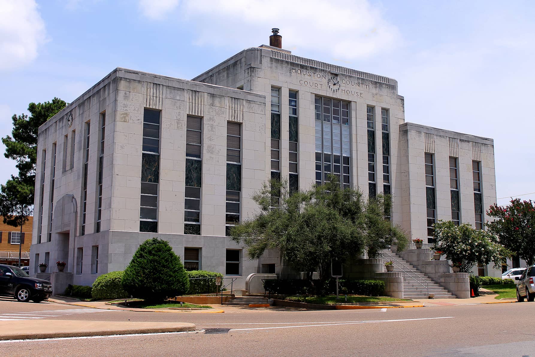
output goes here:
[[121, 279], [123, 289], [149, 303], [186, 293], [188, 274], [180, 258], [164, 240], [152, 238], [137, 248]]

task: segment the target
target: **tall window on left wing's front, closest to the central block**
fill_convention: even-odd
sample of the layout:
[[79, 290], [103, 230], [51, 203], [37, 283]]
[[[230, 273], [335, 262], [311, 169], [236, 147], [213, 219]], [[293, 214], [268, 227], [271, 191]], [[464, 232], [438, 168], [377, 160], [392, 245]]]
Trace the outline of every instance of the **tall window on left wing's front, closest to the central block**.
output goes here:
[[240, 222], [241, 124], [227, 122], [227, 183], [225, 235]]

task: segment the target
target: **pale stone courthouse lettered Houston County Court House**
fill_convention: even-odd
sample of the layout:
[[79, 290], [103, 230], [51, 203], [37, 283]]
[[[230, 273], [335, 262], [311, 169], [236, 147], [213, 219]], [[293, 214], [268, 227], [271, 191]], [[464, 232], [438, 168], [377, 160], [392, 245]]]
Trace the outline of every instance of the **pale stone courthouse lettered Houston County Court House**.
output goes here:
[[391, 194], [390, 219], [411, 239], [432, 242], [438, 219], [484, 228], [492, 139], [406, 122], [392, 78], [270, 39], [190, 81], [116, 68], [44, 123], [30, 272], [47, 256], [87, 285], [160, 237], [189, 269], [243, 289], [249, 274], [280, 268], [227, 236], [270, 178], [307, 189], [334, 173], [342, 187]]

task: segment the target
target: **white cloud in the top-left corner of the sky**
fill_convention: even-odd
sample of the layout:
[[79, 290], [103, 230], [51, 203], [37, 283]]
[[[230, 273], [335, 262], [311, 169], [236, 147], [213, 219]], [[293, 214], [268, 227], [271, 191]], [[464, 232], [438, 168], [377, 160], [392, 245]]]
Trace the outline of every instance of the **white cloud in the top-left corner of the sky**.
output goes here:
[[45, 43], [44, 21], [34, 0], [0, 0], [0, 70], [24, 66]]

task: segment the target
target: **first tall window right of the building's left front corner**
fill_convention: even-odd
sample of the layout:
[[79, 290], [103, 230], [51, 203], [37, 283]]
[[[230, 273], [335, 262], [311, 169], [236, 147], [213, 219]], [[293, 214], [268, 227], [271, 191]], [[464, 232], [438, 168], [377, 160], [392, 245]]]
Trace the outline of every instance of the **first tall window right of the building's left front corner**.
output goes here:
[[160, 177], [160, 112], [143, 110], [141, 154], [140, 232], [158, 232], [158, 183]]

